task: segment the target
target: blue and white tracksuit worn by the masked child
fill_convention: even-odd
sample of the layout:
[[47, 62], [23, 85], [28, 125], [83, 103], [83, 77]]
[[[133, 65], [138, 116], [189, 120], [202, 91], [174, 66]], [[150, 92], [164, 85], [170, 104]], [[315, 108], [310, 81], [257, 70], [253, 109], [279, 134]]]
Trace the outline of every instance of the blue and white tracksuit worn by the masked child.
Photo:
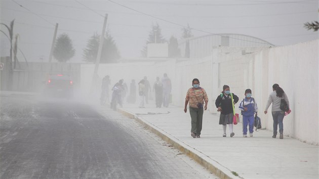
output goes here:
[[[245, 100], [245, 102], [244, 102]], [[244, 103], [244, 105], [243, 105]], [[247, 111], [244, 110], [244, 107], [247, 108]], [[243, 99], [239, 109], [242, 111], [243, 114], [243, 135], [247, 135], [247, 125], [249, 125], [249, 132], [254, 132], [254, 115], [255, 112], [257, 113], [257, 103], [254, 98], [247, 98]]]

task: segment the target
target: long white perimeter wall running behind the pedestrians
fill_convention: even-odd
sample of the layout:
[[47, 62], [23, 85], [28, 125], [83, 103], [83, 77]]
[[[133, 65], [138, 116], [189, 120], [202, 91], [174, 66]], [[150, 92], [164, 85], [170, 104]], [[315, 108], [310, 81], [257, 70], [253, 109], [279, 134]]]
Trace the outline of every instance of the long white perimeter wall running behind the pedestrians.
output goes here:
[[[262, 125], [272, 130], [271, 107], [267, 115], [263, 111], [272, 84], [278, 83], [287, 93], [292, 110], [284, 118], [284, 134], [318, 145], [318, 60], [318, 40], [315, 40], [277, 48], [217, 48], [211, 57], [187, 61], [100, 64], [94, 93], [99, 97], [105, 75], [110, 75], [111, 85], [123, 78], [128, 86], [131, 79], [138, 83], [147, 76], [152, 86], [156, 76], [162, 78], [167, 73], [172, 80], [173, 104], [183, 106], [191, 80], [198, 78], [208, 93], [209, 110], [216, 113], [215, 99], [224, 84], [240, 100], [245, 89], [251, 88]], [[81, 66], [81, 85], [85, 92], [90, 91], [93, 70], [94, 65]], [[238, 104], [235, 107], [239, 112]]]

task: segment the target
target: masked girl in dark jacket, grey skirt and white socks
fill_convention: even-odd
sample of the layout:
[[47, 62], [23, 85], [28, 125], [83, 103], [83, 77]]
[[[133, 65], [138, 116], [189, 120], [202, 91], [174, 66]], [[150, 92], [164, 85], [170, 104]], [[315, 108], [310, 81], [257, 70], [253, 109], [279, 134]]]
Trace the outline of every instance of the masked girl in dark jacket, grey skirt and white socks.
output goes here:
[[233, 107], [232, 105], [236, 104], [238, 102], [238, 97], [230, 93], [230, 88], [228, 85], [223, 86], [223, 91], [220, 95], [218, 95], [215, 105], [217, 111], [220, 111], [220, 117], [219, 117], [219, 124], [223, 125], [223, 137], [226, 137], [226, 124], [229, 126], [230, 131], [230, 137], [232, 138], [235, 133], [233, 132]]

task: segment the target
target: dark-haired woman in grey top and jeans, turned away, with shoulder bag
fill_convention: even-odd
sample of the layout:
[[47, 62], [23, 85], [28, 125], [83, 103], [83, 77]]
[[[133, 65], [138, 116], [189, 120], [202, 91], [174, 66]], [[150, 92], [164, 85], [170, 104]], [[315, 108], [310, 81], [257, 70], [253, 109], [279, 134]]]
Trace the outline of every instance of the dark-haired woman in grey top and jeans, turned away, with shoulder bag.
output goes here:
[[284, 89], [279, 86], [279, 84], [273, 84], [272, 85], [273, 92], [269, 95], [268, 102], [266, 105], [266, 109], [264, 111], [265, 114], [267, 114], [267, 110], [272, 103], [271, 107], [271, 114], [273, 119], [273, 136], [272, 138], [276, 138], [277, 136], [277, 127], [279, 125], [279, 132], [280, 132], [280, 139], [284, 139], [284, 117], [285, 117], [285, 111], [283, 111], [280, 106], [282, 99], [284, 99], [289, 107], [289, 100], [284, 92]]

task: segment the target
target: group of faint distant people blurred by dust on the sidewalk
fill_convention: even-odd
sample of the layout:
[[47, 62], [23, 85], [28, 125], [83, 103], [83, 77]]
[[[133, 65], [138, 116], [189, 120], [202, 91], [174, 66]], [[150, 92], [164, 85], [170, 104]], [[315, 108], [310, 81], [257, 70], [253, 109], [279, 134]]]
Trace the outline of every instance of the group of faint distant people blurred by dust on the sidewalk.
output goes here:
[[162, 79], [160, 79], [160, 77], [156, 77], [153, 87], [151, 87], [146, 76], [144, 76], [144, 78], [138, 82], [138, 86], [136, 86], [135, 79], [132, 79], [129, 92], [128, 86], [126, 82], [124, 82], [124, 79], [120, 79], [111, 88], [111, 99], [109, 98], [110, 83], [110, 77], [106, 75], [102, 79], [101, 105], [105, 104], [106, 102], [110, 102], [110, 107], [113, 108], [114, 103], [116, 102], [115, 105], [119, 104], [120, 106], [123, 106], [125, 98], [129, 104], [135, 104], [137, 101], [136, 94], [138, 92], [139, 107], [145, 108], [145, 104], [148, 104], [149, 102], [149, 97], [151, 96], [150, 93], [154, 92], [156, 108], [161, 108], [162, 105], [166, 108], [169, 106], [171, 100], [172, 83], [167, 73], [164, 73]]

